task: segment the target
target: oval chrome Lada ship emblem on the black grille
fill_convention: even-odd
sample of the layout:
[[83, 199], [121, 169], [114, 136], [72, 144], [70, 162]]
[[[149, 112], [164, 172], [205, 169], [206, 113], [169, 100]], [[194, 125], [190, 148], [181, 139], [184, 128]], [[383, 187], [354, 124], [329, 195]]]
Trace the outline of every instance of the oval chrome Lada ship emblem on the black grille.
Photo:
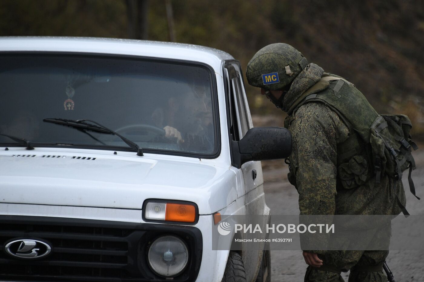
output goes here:
[[40, 240], [20, 239], [10, 241], [4, 246], [6, 254], [23, 259], [45, 257], [52, 251], [51, 246]]

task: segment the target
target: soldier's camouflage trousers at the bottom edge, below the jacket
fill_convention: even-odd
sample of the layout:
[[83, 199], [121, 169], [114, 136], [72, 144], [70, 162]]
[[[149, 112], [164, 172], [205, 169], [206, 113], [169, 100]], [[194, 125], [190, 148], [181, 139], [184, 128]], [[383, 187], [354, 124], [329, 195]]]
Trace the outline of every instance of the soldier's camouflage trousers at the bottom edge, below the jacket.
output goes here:
[[323, 266], [308, 266], [305, 282], [344, 282], [341, 271], [350, 269], [349, 282], [387, 282], [381, 266], [388, 251], [327, 251], [318, 254]]

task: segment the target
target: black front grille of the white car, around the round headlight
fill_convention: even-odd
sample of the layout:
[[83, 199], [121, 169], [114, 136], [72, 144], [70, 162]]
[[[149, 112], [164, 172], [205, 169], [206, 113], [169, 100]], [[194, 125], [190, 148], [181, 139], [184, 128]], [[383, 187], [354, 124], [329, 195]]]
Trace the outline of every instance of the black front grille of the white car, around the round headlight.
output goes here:
[[[156, 276], [147, 265], [148, 244], [164, 232], [172, 232], [185, 239], [197, 237], [190, 232], [186, 234], [186, 226], [167, 229], [169, 227], [165, 224], [128, 224], [69, 218], [59, 220], [0, 216], [0, 280], [161, 281], [165, 279]], [[158, 228], [158, 225], [161, 226]], [[39, 259], [19, 259], [3, 252], [8, 241], [21, 238], [46, 241], [51, 244], [52, 252]], [[195, 249], [195, 246], [191, 249]], [[195, 256], [191, 257], [194, 259]], [[193, 261], [192, 267], [198, 268], [195, 264]], [[173, 281], [193, 281], [187, 280], [192, 278], [188, 267], [185, 272]]]

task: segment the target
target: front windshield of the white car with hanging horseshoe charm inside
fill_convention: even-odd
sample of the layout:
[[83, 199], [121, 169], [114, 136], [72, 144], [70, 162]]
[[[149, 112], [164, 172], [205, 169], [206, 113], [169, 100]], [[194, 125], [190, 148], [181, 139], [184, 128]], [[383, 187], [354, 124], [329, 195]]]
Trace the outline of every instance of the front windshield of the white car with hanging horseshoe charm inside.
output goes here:
[[[218, 147], [212, 72], [200, 64], [8, 54], [0, 56], [0, 86], [0, 133], [34, 147], [128, 149], [117, 135], [43, 119], [92, 120], [148, 152], [213, 155]], [[6, 145], [25, 146], [0, 135]]]

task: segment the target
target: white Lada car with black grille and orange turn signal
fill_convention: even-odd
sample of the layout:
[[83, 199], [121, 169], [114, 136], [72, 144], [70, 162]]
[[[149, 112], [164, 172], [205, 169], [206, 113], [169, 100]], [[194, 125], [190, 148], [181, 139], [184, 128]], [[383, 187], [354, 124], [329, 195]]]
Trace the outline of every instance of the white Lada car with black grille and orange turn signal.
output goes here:
[[1, 281], [270, 281], [268, 250], [212, 247], [225, 216], [269, 214], [259, 160], [291, 150], [253, 128], [231, 55], [4, 37], [0, 89]]

